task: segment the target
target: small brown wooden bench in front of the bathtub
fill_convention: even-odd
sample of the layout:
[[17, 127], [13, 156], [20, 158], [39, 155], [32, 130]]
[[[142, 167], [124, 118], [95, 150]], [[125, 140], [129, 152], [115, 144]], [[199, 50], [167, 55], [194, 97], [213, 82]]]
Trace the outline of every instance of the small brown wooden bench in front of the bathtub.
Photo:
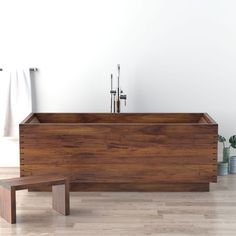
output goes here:
[[69, 215], [69, 180], [62, 176], [30, 176], [0, 180], [0, 216], [16, 223], [16, 191], [41, 186], [52, 186], [53, 209]]

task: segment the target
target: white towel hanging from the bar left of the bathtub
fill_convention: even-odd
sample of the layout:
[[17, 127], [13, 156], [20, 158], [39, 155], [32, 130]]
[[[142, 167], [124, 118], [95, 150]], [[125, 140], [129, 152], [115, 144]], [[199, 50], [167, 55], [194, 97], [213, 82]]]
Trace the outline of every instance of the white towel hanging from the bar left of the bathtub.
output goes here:
[[0, 92], [1, 135], [19, 137], [19, 123], [32, 112], [32, 92], [30, 71], [11, 69], [0, 72], [2, 81]]

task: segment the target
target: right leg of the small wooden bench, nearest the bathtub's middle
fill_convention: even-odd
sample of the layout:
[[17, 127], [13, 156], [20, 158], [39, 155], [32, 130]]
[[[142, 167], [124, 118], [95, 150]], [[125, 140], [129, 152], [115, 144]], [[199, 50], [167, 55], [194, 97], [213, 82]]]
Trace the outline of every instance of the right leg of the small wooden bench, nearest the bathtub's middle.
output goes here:
[[53, 209], [63, 215], [70, 214], [69, 183], [52, 186]]

